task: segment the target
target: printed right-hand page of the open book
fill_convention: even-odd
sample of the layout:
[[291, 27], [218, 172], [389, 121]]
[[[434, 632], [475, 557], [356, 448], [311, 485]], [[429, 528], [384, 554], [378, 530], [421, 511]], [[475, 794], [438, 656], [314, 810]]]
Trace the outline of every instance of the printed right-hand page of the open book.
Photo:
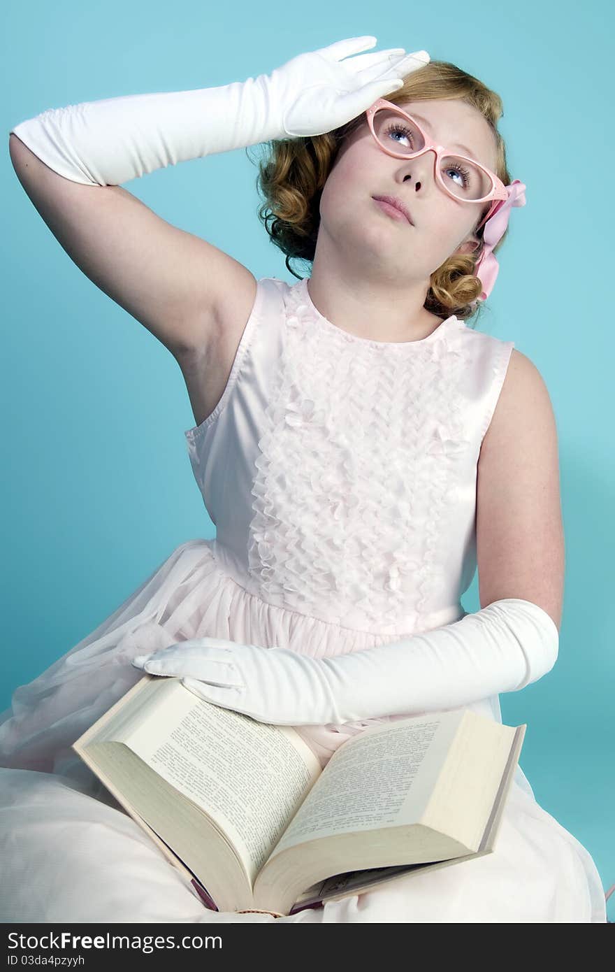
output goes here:
[[446, 712], [397, 720], [344, 743], [271, 856], [315, 838], [415, 823], [461, 718], [462, 713]]

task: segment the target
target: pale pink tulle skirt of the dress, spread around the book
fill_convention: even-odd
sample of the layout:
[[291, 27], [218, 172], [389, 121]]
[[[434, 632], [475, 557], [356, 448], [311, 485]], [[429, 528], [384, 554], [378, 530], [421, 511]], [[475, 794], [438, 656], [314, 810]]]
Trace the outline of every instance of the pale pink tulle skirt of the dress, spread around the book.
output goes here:
[[[314, 657], [388, 640], [266, 604], [222, 572], [215, 541], [181, 544], [0, 714], [0, 920], [606, 921], [592, 856], [539, 806], [520, 767], [492, 854], [284, 918], [206, 908], [71, 749], [142, 677], [135, 655], [206, 635]], [[471, 708], [499, 718], [493, 700]], [[419, 713], [397, 717], [405, 714]], [[296, 730], [325, 766], [352, 735], [383, 721]]]

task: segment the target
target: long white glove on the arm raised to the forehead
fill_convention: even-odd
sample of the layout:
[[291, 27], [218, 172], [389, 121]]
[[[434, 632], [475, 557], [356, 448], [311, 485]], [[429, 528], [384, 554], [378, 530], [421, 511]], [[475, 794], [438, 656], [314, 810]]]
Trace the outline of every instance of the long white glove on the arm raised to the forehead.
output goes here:
[[[222, 87], [134, 94], [49, 109], [11, 130], [58, 175], [117, 186], [191, 158], [320, 135], [357, 118], [429, 61], [375, 37], [298, 54], [269, 75]], [[349, 58], [343, 60], [342, 58]]]

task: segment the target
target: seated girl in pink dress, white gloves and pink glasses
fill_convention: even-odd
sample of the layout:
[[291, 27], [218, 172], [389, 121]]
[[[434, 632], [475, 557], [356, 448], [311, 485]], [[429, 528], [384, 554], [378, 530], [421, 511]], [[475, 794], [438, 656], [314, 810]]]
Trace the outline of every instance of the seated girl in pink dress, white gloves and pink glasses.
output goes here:
[[[181, 544], [16, 689], [0, 725], [4, 921], [605, 921], [594, 861], [519, 767], [495, 853], [276, 918], [204, 907], [71, 749], [144, 668], [297, 726], [325, 765], [388, 719], [467, 707], [501, 721], [498, 693], [555, 664], [548, 393], [512, 341], [465, 323], [525, 202], [501, 102], [426, 52], [365, 53], [375, 43], [13, 129], [17, 176], [60, 244], [180, 364], [217, 537]], [[312, 263], [292, 286], [256, 281], [120, 188], [260, 142], [267, 230], [289, 269]], [[477, 565], [482, 608], [466, 614]]]

